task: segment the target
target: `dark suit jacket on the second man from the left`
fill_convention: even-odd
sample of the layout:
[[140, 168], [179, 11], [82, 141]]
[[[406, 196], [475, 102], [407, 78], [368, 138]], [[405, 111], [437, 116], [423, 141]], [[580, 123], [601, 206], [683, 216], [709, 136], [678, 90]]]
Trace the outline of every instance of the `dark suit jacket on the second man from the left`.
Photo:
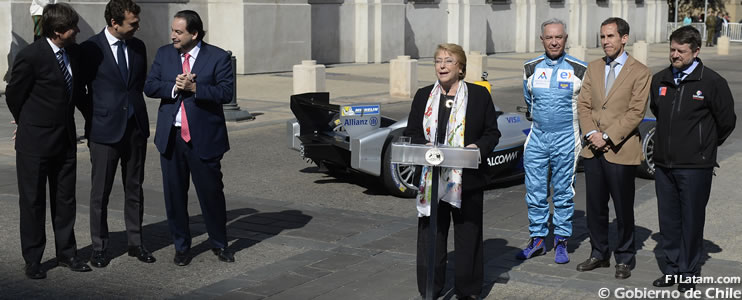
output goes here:
[[[107, 30], [107, 29], [103, 29]], [[147, 52], [144, 43], [127, 41], [129, 78], [121, 78], [118, 65], [103, 31], [80, 45], [85, 60], [88, 101], [92, 115], [88, 138], [96, 143], [112, 144], [121, 140], [129, 119], [129, 103], [134, 119], [145, 138], [149, 137], [149, 118], [144, 103], [144, 80], [147, 76]]]

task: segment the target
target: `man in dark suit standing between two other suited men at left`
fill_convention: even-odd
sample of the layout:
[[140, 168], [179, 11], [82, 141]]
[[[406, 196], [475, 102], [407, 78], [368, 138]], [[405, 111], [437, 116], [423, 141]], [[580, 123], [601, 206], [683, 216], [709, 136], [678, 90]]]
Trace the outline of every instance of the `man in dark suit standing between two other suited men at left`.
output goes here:
[[144, 159], [149, 137], [149, 120], [144, 103], [147, 53], [144, 43], [134, 37], [139, 29], [139, 6], [131, 0], [111, 0], [104, 16], [108, 26], [81, 45], [85, 57], [88, 94], [92, 104], [90, 120], [90, 263], [108, 265], [108, 200], [116, 165], [121, 162], [124, 184], [124, 220], [129, 256], [145, 263], [155, 262], [142, 244], [144, 214]]

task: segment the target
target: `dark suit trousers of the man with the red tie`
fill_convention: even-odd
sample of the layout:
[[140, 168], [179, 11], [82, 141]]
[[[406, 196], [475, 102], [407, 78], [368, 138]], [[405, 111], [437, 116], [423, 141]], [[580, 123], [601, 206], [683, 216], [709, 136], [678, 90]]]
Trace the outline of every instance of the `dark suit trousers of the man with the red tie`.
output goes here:
[[222, 182], [221, 159], [202, 159], [193, 150], [191, 142], [180, 136], [180, 128], [173, 126], [167, 151], [160, 154], [165, 208], [175, 250], [191, 248], [188, 226], [188, 188], [190, 176], [196, 188], [201, 213], [212, 248], [227, 247], [227, 211]]

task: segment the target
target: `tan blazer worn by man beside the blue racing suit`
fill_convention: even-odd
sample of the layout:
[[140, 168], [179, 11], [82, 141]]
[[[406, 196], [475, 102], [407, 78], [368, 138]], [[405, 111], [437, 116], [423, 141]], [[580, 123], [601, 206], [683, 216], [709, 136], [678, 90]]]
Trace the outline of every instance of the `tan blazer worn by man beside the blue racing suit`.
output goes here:
[[[626, 64], [613, 82], [610, 93], [605, 95], [606, 58], [590, 62], [577, 98], [580, 129], [583, 134], [598, 130], [608, 134], [611, 150], [605, 159], [614, 164], [638, 165], [641, 163], [641, 141], [637, 127], [647, 110], [649, 85], [652, 79], [649, 68], [629, 56]], [[594, 157], [597, 152], [589, 144], [580, 155]]]

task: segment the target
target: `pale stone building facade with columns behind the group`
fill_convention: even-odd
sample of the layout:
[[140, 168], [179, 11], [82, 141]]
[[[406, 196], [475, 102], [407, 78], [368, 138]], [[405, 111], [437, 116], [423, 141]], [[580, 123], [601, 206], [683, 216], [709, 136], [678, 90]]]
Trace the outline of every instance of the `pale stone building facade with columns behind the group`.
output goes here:
[[[61, 0], [65, 1], [65, 0]], [[81, 15], [78, 42], [105, 27], [107, 1], [69, 2]], [[600, 22], [631, 25], [631, 40], [661, 42], [667, 0], [140, 0], [148, 59], [169, 43], [172, 16], [197, 11], [207, 42], [231, 50], [240, 74], [290, 71], [301, 60], [321, 64], [382, 63], [398, 55], [431, 57], [435, 46], [458, 43], [493, 54], [540, 52], [541, 22], [560, 18], [569, 45], [597, 47]], [[32, 39], [28, 0], [0, 0], [0, 75]]]

